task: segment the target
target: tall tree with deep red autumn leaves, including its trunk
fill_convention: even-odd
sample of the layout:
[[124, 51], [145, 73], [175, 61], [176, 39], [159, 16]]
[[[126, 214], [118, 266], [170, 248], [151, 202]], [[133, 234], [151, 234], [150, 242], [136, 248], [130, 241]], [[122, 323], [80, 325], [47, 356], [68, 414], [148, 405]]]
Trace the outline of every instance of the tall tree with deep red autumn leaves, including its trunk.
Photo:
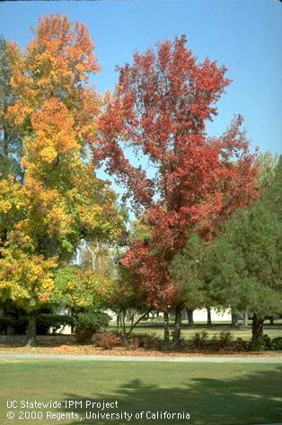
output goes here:
[[[176, 307], [177, 323], [182, 300], [169, 266], [185, 246], [187, 230], [211, 239], [235, 208], [256, 197], [257, 173], [242, 117], [221, 137], [207, 137], [206, 123], [230, 80], [224, 66], [208, 59], [198, 63], [185, 43], [184, 36], [165, 40], [119, 67], [119, 82], [99, 121], [100, 137], [89, 137], [95, 164], [104, 162], [125, 185], [150, 231], [130, 244], [123, 264], [138, 276], [148, 305], [164, 312]], [[131, 164], [124, 146], [144, 155], [150, 167]]]

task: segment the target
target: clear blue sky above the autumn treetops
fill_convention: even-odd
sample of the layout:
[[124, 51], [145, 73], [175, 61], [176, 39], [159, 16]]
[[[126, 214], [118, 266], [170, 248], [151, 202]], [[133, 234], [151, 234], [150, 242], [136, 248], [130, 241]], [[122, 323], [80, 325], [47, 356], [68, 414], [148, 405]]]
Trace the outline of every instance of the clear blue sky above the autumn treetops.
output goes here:
[[102, 70], [98, 91], [112, 89], [116, 65], [158, 40], [186, 34], [199, 60], [228, 67], [234, 80], [208, 126], [218, 136], [235, 113], [245, 118], [252, 146], [282, 153], [282, 3], [278, 0], [119, 0], [76, 2], [1, 2], [0, 34], [23, 48], [31, 26], [48, 13], [84, 22], [97, 46]]

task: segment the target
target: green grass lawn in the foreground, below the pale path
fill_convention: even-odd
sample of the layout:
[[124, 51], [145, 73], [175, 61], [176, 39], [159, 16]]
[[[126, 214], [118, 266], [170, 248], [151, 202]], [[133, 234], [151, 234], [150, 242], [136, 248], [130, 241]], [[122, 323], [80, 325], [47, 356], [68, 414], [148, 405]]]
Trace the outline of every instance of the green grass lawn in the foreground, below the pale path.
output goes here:
[[[49, 425], [124, 425], [191, 423], [194, 425], [246, 425], [282, 421], [282, 367], [270, 364], [212, 364], [112, 362], [80, 360], [0, 361], [0, 423]], [[74, 419], [8, 420], [7, 400], [63, 403], [57, 413]], [[66, 400], [82, 401], [83, 408], [66, 409]], [[92, 420], [85, 418], [85, 403], [118, 402], [118, 408], [92, 412], [189, 412], [190, 420]], [[149, 413], [149, 416], [152, 415]], [[58, 418], [58, 417], [57, 417]], [[80, 420], [80, 418], [83, 418]]]

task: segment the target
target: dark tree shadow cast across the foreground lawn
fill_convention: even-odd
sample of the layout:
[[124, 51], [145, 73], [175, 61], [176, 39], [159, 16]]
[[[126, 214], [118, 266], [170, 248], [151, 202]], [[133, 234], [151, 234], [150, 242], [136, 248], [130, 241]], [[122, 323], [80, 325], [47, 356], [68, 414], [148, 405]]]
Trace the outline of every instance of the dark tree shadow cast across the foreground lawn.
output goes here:
[[[199, 366], [200, 367], [200, 366]], [[233, 379], [194, 378], [187, 379], [187, 383], [180, 387], [164, 388], [162, 385], [145, 385], [142, 379], [134, 379], [126, 384], [119, 385], [115, 394], [101, 392], [93, 394], [91, 398], [78, 394], [65, 394], [65, 401], [82, 402], [83, 408], [66, 409], [65, 412], [76, 412], [79, 418], [70, 425], [104, 425], [114, 422], [119, 425], [131, 424], [179, 424], [191, 423], [194, 425], [245, 425], [282, 421], [281, 377], [282, 367], [276, 371], [260, 373], [246, 373]], [[242, 372], [243, 374], [243, 372]], [[165, 377], [164, 377], [165, 378]], [[95, 377], [93, 376], [93, 379]], [[85, 408], [89, 403], [114, 403], [118, 401], [118, 408], [97, 409], [96, 405]], [[87, 412], [98, 413], [100, 418]], [[148, 413], [147, 419], [137, 420], [137, 412]], [[155, 419], [155, 412], [189, 412], [190, 419]], [[101, 413], [132, 413], [123, 418], [114, 416], [112, 420], [101, 416]], [[145, 413], [144, 413], [145, 415]], [[80, 418], [83, 418], [81, 420]]]

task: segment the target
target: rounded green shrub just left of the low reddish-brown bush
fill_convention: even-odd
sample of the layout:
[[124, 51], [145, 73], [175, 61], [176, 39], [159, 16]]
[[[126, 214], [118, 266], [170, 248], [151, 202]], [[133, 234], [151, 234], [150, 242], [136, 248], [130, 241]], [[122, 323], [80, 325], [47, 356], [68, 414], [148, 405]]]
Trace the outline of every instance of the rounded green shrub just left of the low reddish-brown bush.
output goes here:
[[93, 334], [108, 326], [110, 315], [93, 310], [79, 313], [76, 317], [75, 338], [77, 342], [90, 342]]

